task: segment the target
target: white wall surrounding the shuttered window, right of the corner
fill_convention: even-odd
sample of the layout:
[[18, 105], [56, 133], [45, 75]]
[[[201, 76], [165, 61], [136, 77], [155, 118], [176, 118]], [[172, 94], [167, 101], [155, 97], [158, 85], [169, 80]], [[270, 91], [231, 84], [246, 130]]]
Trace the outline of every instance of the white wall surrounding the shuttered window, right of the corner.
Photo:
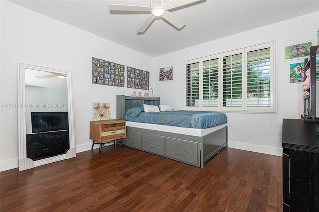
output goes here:
[[[173, 66], [173, 81], [155, 80], [153, 83], [155, 96], [161, 98], [161, 104], [170, 104], [175, 109], [183, 109], [184, 61], [275, 40], [278, 113], [228, 112], [228, 139], [229, 147], [281, 155], [281, 136], [278, 136], [278, 129], [282, 128], [282, 119], [300, 118], [303, 112], [302, 84], [288, 84], [289, 62], [284, 58], [284, 46], [310, 40], [317, 45], [318, 28], [319, 12], [315, 12], [156, 57], [154, 71], [157, 70], [159, 76], [160, 68]], [[155, 76], [154, 79], [158, 77]]]

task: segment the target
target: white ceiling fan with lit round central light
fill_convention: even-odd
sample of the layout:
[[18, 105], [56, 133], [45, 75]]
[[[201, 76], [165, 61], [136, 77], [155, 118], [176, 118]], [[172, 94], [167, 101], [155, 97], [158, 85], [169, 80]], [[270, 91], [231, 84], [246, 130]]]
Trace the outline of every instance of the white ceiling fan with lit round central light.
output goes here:
[[153, 22], [156, 17], [162, 17], [176, 28], [180, 29], [185, 25], [185, 22], [167, 11], [186, 4], [190, 4], [200, 0], [169, 0], [164, 2], [163, 0], [150, 0], [151, 6], [135, 6], [135, 5], [123, 5], [123, 4], [110, 4], [110, 10], [114, 11], [149, 11], [151, 14], [138, 28], [137, 32], [144, 32]]

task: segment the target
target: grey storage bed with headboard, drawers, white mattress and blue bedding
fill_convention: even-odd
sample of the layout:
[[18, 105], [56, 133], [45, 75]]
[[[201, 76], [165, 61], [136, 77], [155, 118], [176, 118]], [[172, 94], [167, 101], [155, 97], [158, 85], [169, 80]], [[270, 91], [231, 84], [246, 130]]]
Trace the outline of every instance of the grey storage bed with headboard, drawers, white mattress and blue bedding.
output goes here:
[[[224, 113], [217, 121], [214, 118], [203, 121], [204, 117], [213, 115], [212, 112], [145, 112], [143, 105], [160, 106], [160, 98], [117, 96], [117, 119], [127, 119], [125, 146], [200, 168], [227, 147], [227, 117]], [[130, 117], [127, 113], [131, 114]], [[176, 114], [172, 116], [172, 113]], [[136, 120], [141, 114], [142, 120]], [[180, 116], [183, 118], [178, 118]]]

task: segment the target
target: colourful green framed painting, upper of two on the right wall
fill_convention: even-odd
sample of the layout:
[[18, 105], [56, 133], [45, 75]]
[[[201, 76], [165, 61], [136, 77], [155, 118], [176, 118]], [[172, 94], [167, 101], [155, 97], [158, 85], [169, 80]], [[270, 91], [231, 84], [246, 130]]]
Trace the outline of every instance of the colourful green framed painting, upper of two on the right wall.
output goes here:
[[285, 60], [298, 59], [308, 57], [310, 55], [310, 47], [312, 41], [300, 44], [285, 46]]

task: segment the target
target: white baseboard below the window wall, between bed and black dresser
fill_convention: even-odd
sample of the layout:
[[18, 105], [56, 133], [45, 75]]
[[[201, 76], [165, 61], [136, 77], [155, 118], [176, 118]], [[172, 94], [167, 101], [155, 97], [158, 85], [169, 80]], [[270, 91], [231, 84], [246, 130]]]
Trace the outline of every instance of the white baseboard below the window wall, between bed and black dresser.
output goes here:
[[234, 149], [241, 149], [251, 152], [258, 152], [268, 155], [276, 155], [283, 156], [283, 148], [271, 147], [271, 146], [263, 146], [251, 143], [242, 143], [238, 141], [230, 141], [228, 140], [228, 147]]

